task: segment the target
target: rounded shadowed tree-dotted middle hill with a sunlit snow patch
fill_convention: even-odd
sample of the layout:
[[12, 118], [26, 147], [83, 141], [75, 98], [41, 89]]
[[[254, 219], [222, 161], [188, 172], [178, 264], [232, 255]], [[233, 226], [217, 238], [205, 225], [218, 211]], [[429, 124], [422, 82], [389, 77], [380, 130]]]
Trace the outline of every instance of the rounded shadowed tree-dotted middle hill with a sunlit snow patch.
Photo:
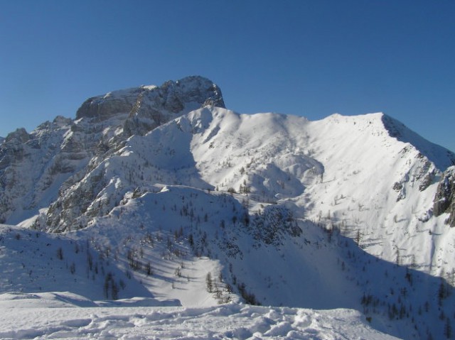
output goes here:
[[[455, 312], [446, 283], [368, 256], [349, 238], [293, 219], [275, 204], [263, 204], [263, 211], [247, 221], [249, 206], [240, 204], [244, 198], [240, 194], [181, 186], [149, 189], [127, 194], [107, 216], [65, 234], [73, 242], [90, 245], [99, 274], [87, 269], [84, 255], [75, 268], [97, 280], [92, 289], [98, 296], [104, 296], [102, 283], [109, 277], [100, 263], [109, 263], [124, 273], [114, 275], [116, 282], [126, 276], [127, 289], [140, 283], [159, 300], [155, 304], [178, 299], [186, 307], [210, 306], [242, 296], [263, 305], [349, 307], [365, 312], [375, 329], [404, 339], [443, 334], [446, 319], [439, 319], [438, 309], [446, 315]], [[20, 244], [15, 232], [10, 231], [10, 244]], [[65, 258], [74, 256], [73, 246], [62, 248]], [[57, 250], [54, 246], [51, 255], [57, 256]], [[17, 269], [11, 278], [21, 273], [18, 263], [13, 267]], [[27, 285], [16, 286], [33, 292], [24, 289]], [[55, 287], [44, 285], [42, 291]], [[439, 298], [441, 289], [444, 296]], [[109, 298], [111, 290], [109, 286]], [[142, 295], [140, 290], [136, 294]], [[119, 299], [128, 296], [119, 290]]]

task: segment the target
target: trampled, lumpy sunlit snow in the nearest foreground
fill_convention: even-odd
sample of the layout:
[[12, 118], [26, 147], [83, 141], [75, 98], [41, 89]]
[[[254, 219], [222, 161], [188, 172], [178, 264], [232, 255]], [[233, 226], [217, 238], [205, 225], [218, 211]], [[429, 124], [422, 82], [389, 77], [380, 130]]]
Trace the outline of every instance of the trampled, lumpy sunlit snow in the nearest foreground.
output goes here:
[[[136, 301], [137, 303], [138, 301]], [[71, 293], [0, 295], [1, 339], [397, 339], [350, 309], [242, 304], [214, 307], [75, 307]], [[43, 307], [45, 306], [45, 307]]]

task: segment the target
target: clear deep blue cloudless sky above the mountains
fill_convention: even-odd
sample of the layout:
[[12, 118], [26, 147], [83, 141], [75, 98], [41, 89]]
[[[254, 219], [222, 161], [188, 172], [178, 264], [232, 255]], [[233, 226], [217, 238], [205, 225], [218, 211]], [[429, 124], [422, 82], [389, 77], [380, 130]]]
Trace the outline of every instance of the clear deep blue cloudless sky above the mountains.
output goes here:
[[455, 151], [455, 1], [0, 0], [0, 136], [203, 75], [240, 113], [383, 111]]

